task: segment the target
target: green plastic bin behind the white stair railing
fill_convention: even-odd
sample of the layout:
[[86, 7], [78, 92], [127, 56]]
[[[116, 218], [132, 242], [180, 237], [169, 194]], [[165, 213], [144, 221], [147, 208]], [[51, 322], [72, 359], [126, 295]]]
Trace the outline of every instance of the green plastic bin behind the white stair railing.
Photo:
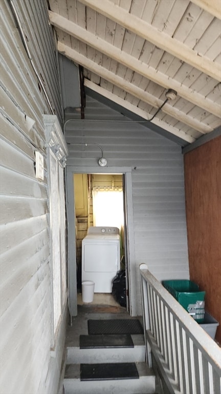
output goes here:
[[163, 281], [163, 286], [178, 301], [193, 319], [201, 323], [204, 320], [204, 299], [206, 291], [200, 291], [199, 286], [189, 280]]

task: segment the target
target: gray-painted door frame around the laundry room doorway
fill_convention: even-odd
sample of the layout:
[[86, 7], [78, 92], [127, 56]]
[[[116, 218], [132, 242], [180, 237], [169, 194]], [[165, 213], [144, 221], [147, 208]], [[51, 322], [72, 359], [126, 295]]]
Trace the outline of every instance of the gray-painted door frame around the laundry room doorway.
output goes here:
[[[120, 174], [123, 180], [124, 196], [124, 256], [127, 311], [130, 316], [137, 316], [136, 295], [136, 261], [135, 261], [135, 239], [134, 239], [134, 216], [132, 204], [132, 173], [130, 167], [105, 167], [102, 174]], [[68, 207], [68, 285], [69, 285], [69, 312], [71, 318], [77, 316], [77, 238], [76, 238], [76, 215], [74, 198], [74, 174], [88, 174], [89, 167], [67, 166], [66, 187]], [[101, 174], [100, 169], [90, 167], [90, 174]], [[85, 202], [84, 202], [85, 205]]]

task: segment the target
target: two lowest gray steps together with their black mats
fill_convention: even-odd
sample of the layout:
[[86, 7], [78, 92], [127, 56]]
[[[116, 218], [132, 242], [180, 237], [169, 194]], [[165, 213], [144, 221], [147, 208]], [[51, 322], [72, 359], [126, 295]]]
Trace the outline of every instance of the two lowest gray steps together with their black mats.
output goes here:
[[63, 386], [64, 394], [154, 393], [143, 334], [80, 334], [67, 346]]

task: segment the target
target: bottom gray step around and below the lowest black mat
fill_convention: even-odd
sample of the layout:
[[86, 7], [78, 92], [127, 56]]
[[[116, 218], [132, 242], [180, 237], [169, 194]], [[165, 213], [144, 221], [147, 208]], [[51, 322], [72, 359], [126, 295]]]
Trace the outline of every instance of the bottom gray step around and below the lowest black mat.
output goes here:
[[[126, 358], [124, 359], [125, 362]], [[126, 360], [127, 362], [127, 360]], [[154, 394], [155, 376], [145, 362], [136, 363], [139, 379], [80, 380], [80, 364], [67, 364], [64, 394]]]

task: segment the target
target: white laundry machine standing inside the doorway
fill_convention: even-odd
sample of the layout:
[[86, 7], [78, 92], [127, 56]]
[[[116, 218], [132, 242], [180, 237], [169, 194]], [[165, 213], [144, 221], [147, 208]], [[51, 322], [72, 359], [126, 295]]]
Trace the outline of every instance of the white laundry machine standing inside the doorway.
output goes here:
[[89, 227], [82, 240], [82, 282], [93, 281], [95, 293], [111, 293], [120, 270], [120, 231], [117, 227]]

